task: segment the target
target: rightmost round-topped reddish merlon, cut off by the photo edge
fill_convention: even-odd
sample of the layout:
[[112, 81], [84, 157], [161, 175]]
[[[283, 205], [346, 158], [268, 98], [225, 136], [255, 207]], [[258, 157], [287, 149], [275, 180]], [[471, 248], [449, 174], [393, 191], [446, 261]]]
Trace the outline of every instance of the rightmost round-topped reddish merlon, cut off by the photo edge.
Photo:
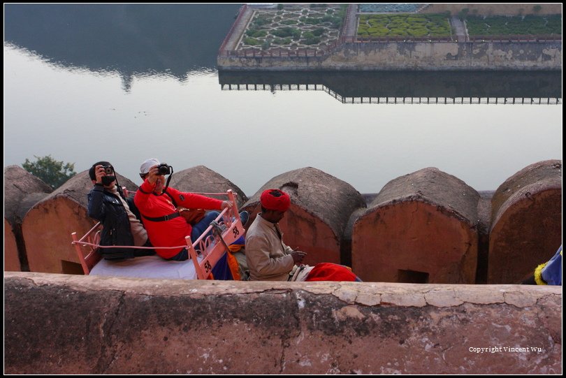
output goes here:
[[492, 199], [488, 283], [532, 275], [562, 244], [562, 162], [531, 164], [509, 177]]

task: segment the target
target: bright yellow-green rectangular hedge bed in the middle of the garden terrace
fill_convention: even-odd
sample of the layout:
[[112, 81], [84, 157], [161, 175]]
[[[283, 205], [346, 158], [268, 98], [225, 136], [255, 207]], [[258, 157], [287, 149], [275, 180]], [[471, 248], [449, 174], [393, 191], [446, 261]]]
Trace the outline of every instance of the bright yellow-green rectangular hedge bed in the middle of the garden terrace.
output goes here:
[[358, 36], [450, 36], [447, 15], [360, 15]]

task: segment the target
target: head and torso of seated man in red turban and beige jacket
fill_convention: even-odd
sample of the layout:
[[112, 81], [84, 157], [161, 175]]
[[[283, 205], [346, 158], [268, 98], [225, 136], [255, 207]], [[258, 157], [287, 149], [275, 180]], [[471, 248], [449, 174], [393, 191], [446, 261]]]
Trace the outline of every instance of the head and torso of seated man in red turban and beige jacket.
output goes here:
[[293, 251], [283, 242], [279, 222], [291, 206], [289, 194], [267, 189], [259, 198], [261, 212], [246, 233], [246, 261], [251, 281], [287, 281], [305, 252]]

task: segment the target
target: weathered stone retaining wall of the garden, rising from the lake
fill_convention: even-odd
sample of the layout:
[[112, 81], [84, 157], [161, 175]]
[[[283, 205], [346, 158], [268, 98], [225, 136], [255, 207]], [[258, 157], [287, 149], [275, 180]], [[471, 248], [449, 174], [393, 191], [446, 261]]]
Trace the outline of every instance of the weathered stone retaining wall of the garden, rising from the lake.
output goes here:
[[562, 68], [562, 41], [344, 43], [324, 57], [218, 57], [221, 70], [545, 71]]

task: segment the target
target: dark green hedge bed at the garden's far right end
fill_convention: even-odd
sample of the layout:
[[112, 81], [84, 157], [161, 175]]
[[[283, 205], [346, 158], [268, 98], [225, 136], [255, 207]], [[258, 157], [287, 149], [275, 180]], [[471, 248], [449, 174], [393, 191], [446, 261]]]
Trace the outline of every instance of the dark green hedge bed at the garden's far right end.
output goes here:
[[470, 36], [562, 34], [562, 15], [467, 16]]

